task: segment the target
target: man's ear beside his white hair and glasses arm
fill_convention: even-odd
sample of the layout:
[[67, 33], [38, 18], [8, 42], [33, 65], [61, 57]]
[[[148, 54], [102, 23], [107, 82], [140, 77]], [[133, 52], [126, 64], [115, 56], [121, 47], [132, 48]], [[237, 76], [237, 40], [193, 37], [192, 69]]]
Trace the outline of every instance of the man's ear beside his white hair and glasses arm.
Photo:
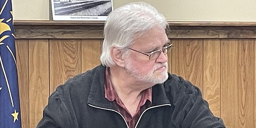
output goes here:
[[123, 55], [123, 52], [120, 49], [118, 49], [116, 46], [112, 46], [112, 48], [110, 49], [110, 56], [112, 60], [116, 65], [124, 68], [125, 63], [122, 55]]

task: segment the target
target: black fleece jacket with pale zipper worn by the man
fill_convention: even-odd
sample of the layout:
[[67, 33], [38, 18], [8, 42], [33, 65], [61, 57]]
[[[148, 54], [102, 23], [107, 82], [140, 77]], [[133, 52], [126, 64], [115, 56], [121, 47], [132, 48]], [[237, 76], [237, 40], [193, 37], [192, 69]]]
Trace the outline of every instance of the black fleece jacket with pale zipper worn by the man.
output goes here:
[[[37, 128], [128, 128], [123, 116], [105, 98], [105, 69], [99, 65], [68, 79], [49, 97]], [[136, 128], [225, 128], [202, 93], [190, 82], [169, 74], [152, 87], [152, 106]]]

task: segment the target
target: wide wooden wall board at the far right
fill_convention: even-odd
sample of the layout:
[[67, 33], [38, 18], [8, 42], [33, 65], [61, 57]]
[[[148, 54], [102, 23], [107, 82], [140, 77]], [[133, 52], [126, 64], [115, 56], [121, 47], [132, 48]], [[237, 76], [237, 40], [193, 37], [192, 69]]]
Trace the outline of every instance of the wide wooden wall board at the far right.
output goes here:
[[253, 128], [253, 39], [221, 40], [221, 117], [227, 128]]

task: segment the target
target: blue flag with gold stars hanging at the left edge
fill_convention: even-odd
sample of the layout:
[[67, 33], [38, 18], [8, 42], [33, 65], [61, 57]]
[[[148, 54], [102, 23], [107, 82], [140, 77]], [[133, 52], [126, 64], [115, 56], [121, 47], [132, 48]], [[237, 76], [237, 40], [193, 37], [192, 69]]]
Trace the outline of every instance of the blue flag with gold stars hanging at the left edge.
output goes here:
[[21, 128], [11, 0], [0, 0], [0, 128]]

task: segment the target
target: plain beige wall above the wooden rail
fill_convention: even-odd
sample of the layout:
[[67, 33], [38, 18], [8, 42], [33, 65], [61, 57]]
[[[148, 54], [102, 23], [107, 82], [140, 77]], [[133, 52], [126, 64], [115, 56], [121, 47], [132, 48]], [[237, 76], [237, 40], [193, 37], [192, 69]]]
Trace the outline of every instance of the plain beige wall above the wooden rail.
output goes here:
[[[138, 0], [113, 0], [117, 8]], [[256, 0], [141, 0], [168, 21], [256, 22]], [[12, 0], [15, 20], [49, 20], [49, 0]]]

